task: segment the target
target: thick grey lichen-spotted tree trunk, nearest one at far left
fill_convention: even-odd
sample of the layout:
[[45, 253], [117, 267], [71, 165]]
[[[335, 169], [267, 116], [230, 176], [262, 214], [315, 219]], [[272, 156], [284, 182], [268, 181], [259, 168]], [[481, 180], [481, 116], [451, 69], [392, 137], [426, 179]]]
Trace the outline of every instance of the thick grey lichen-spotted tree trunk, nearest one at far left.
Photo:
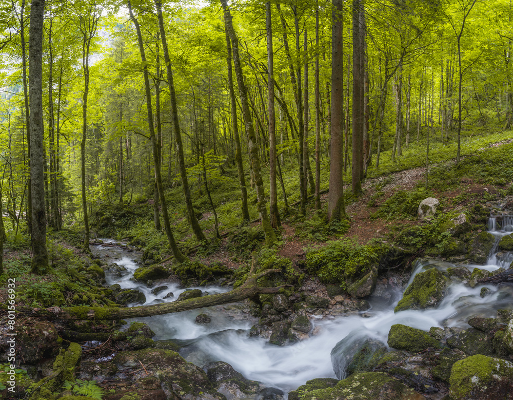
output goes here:
[[43, 20], [44, 0], [32, 0], [29, 30], [30, 89], [30, 179], [32, 183], [32, 265], [33, 273], [48, 271], [46, 248], [45, 185], [43, 177]]

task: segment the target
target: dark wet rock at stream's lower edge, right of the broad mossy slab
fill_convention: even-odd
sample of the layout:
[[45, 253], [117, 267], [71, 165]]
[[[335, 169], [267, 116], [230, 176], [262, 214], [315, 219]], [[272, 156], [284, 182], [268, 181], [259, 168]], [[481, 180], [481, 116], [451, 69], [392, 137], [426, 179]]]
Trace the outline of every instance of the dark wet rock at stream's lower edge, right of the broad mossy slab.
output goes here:
[[229, 400], [254, 398], [258, 392], [258, 382], [246, 379], [223, 361], [210, 364], [205, 369], [213, 386]]

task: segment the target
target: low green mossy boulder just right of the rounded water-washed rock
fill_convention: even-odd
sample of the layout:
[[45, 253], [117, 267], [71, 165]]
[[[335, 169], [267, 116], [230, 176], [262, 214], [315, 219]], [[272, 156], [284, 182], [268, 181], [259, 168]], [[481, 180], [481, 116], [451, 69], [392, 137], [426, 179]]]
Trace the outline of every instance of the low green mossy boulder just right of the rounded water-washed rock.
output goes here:
[[422, 350], [433, 348], [442, 349], [444, 345], [437, 339], [432, 338], [425, 331], [411, 328], [401, 323], [392, 325], [388, 332], [388, 346], [397, 350], [407, 350], [418, 353]]

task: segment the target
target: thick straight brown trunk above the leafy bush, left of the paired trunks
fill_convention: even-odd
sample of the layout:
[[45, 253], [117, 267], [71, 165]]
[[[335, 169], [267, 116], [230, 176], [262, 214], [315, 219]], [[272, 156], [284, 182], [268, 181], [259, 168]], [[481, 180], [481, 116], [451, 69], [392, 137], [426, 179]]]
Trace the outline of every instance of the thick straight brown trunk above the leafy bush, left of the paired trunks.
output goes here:
[[328, 220], [345, 218], [344, 207], [344, 70], [343, 1], [333, 0], [331, 28], [331, 145], [329, 168]]

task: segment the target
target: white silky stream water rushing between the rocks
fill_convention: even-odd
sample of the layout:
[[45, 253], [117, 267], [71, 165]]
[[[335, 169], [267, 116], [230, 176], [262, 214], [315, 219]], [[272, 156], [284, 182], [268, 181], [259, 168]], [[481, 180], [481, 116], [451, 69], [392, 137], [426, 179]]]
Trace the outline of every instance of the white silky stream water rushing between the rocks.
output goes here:
[[[501, 266], [507, 268], [513, 260], [511, 253], [502, 254], [500, 260], [496, 258], [497, 242], [504, 235], [513, 232], [513, 216], [501, 217], [500, 223], [496, 218], [490, 218], [488, 230], [496, 236], [496, 244], [490, 253], [487, 265], [465, 265], [470, 271], [476, 267], [488, 271], [495, 271]], [[124, 276], [108, 274], [107, 283], [118, 283], [122, 288], [140, 290], [146, 295], [145, 304], [175, 301], [178, 295], [185, 291], [179, 284], [166, 280], [166, 283], [155, 284], [153, 288], [166, 284], [168, 289], [153, 295], [151, 294], [153, 288], [147, 288], [145, 284], [130, 279], [139, 265], [133, 261], [133, 256], [130, 256], [129, 253], [115, 250], [113, 247], [105, 249], [100, 246], [96, 246], [94, 251], [104, 259], [123, 265], [127, 270]], [[418, 262], [410, 282], [417, 273], [432, 266], [445, 271], [454, 265], [437, 260]], [[369, 299], [371, 309], [365, 313], [314, 318], [312, 323], [316, 332], [319, 332], [317, 335], [297, 344], [283, 347], [270, 345], [262, 338], [249, 337], [249, 328], [257, 322], [257, 319], [243, 313], [242, 307], [238, 305], [219, 306], [207, 310], [193, 310], [140, 318], [139, 320], [146, 322], [156, 333], [154, 339], [173, 339], [181, 345], [186, 345], [181, 351], [182, 356], [200, 367], [209, 361], [225, 361], [248, 379], [258, 380], [266, 386], [288, 392], [305, 384], [309, 379], [335, 377], [330, 352], [340, 340], [347, 336], [355, 339], [367, 336], [386, 343], [388, 331], [396, 323], [426, 331], [430, 327], [466, 328], [468, 325], [465, 320], [470, 315], [495, 317], [498, 309], [510, 308], [513, 287], [485, 285], [490, 290], [490, 294], [482, 298], [480, 291], [483, 286], [478, 285], [472, 289], [461, 282], [454, 282], [436, 309], [408, 310], [397, 314], [394, 314], [393, 309], [401, 298], [401, 292], [392, 294], [389, 301], [383, 300], [382, 297], [373, 298], [371, 296]], [[229, 290], [220, 287], [200, 289], [208, 293]], [[172, 292], [174, 296], [163, 299], [169, 292]], [[206, 325], [196, 324], [194, 319], [200, 312], [207, 313], [212, 322]]]

